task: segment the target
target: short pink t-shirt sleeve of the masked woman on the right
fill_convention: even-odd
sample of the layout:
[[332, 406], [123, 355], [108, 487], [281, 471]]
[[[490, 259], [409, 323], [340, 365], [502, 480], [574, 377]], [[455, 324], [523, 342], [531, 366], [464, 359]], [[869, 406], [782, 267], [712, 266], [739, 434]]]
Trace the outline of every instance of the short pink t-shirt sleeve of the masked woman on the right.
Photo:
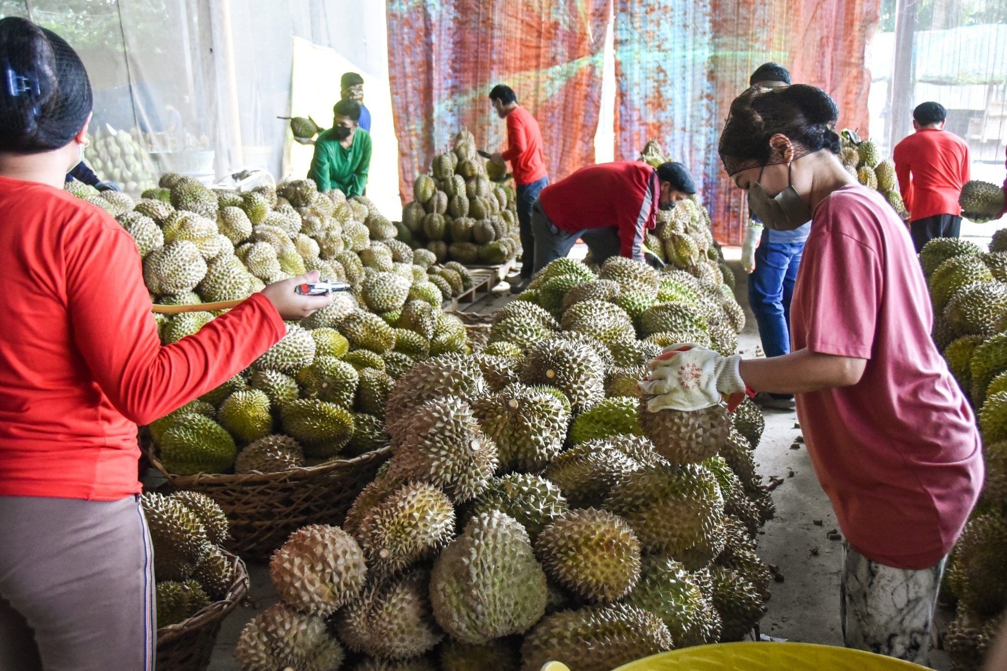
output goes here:
[[803, 282], [814, 288], [804, 305], [806, 347], [820, 354], [870, 359], [881, 301], [881, 266], [863, 242], [841, 232], [809, 240], [816, 245], [802, 267]]

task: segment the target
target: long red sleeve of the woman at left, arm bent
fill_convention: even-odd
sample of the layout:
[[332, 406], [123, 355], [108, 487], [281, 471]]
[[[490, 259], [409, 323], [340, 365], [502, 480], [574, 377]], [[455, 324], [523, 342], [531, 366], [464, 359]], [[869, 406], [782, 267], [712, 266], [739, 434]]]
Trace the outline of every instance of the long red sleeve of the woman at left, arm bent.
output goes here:
[[286, 333], [269, 299], [255, 294], [162, 347], [140, 257], [125, 229], [89, 226], [67, 243], [65, 263], [77, 346], [105, 395], [138, 425], [220, 386]]

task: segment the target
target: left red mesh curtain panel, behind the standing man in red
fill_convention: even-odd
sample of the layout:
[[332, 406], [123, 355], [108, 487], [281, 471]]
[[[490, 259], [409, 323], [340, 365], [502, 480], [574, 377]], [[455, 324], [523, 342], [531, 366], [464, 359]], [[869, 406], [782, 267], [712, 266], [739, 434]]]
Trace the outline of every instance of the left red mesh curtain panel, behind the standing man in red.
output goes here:
[[486, 96], [507, 83], [538, 120], [550, 179], [594, 162], [602, 48], [612, 0], [391, 0], [389, 78], [405, 200], [465, 127], [506, 140]]

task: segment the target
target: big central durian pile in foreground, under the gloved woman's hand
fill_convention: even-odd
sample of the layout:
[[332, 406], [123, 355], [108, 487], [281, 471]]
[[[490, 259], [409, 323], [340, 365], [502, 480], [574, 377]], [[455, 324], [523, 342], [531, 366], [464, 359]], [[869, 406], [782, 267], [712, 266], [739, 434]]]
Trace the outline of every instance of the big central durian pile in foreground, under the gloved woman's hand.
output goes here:
[[662, 345], [739, 330], [730, 292], [625, 259], [532, 285], [484, 351], [392, 386], [391, 460], [341, 527], [274, 554], [282, 601], [246, 626], [245, 671], [608, 671], [758, 623], [760, 410], [654, 413], [636, 391]]

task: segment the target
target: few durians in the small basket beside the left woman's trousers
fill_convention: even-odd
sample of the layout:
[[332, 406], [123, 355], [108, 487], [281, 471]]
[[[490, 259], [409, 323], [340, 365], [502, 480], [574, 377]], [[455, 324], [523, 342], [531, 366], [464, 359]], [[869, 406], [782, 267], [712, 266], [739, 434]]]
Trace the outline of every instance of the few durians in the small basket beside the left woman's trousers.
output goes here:
[[205, 494], [149, 492], [140, 498], [154, 547], [157, 626], [175, 625], [221, 601], [235, 581], [221, 545], [228, 518]]

